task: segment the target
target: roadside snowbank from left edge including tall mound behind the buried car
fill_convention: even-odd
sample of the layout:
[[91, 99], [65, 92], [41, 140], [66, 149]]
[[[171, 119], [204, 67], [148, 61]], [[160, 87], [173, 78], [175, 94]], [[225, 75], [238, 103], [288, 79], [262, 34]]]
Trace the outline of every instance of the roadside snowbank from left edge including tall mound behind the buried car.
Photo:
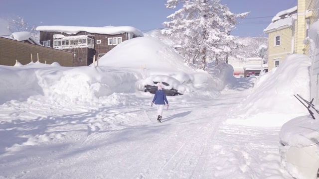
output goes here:
[[[121, 43], [99, 60], [98, 67], [92, 64], [89, 67], [70, 68], [61, 67], [58, 63], [48, 65], [39, 62], [22, 66], [17, 62], [14, 67], [0, 66], [0, 70], [3, 77], [8, 74], [7, 78], [0, 78], [0, 83], [3, 83], [0, 103], [12, 99], [25, 101], [36, 96], [61, 104], [105, 104], [105, 101], [109, 101], [107, 98], [115, 97], [107, 105], [130, 105], [135, 95], [144, 91], [145, 79], [151, 75], [158, 76], [155, 79], [160, 76], [169, 77], [166, 83], [171, 83], [186, 97], [215, 97], [232, 76], [229, 70], [214, 78], [207, 72], [194, 71], [183, 62], [179, 54], [152, 37], [140, 37]], [[226, 75], [228, 73], [229, 76]], [[123, 95], [131, 97], [118, 98]]]

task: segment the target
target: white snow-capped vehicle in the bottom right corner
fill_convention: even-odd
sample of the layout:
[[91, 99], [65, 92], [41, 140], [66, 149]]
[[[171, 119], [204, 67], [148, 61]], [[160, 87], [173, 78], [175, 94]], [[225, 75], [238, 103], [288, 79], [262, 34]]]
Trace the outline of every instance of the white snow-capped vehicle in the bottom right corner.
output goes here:
[[279, 152], [288, 173], [296, 179], [319, 179], [319, 121], [300, 116], [280, 131]]

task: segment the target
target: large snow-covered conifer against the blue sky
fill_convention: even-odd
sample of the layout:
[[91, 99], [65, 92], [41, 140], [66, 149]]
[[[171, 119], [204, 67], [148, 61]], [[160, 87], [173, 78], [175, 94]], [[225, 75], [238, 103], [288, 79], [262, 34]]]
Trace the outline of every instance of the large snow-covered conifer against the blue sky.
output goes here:
[[163, 22], [167, 29], [162, 33], [178, 37], [180, 54], [187, 63], [197, 63], [198, 69], [206, 69], [206, 60], [222, 65], [232, 48], [236, 48], [236, 37], [230, 32], [237, 18], [248, 12], [232, 13], [220, 0], [167, 0], [165, 5], [174, 9], [179, 4], [182, 7], [167, 17], [171, 21]]

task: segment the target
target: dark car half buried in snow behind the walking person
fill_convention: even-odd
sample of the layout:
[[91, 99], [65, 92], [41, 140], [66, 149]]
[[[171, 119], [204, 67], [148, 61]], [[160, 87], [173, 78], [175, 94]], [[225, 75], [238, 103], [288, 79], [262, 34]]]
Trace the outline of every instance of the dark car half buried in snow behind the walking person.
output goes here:
[[186, 85], [167, 75], [151, 75], [144, 84], [144, 91], [151, 93], [155, 93], [158, 90], [158, 84], [161, 84], [163, 92], [169, 96], [182, 95], [187, 88]]

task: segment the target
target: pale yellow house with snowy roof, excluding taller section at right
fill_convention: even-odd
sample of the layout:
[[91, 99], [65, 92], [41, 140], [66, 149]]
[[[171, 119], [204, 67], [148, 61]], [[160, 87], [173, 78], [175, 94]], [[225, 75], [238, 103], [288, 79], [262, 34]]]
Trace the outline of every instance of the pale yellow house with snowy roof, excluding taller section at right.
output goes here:
[[278, 12], [264, 32], [268, 34], [268, 71], [276, 68], [295, 49], [297, 6]]

